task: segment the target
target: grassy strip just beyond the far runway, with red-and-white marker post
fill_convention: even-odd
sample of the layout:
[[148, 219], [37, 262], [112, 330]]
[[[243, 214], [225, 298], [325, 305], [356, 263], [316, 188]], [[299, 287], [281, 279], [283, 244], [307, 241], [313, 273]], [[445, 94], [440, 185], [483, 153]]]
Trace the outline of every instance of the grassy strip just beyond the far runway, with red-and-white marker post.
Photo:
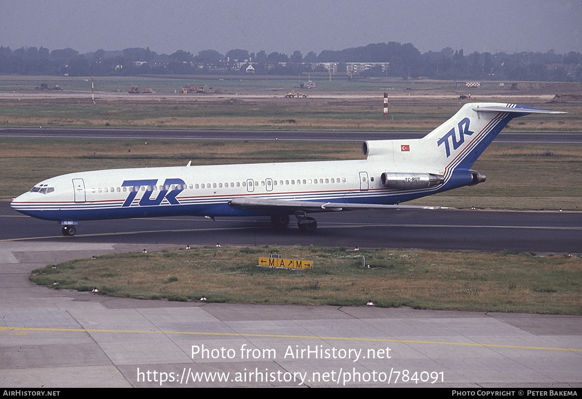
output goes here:
[[[58, 97], [58, 96], [57, 96]], [[377, 130], [431, 131], [454, 115], [466, 100], [455, 98], [391, 99], [383, 117], [381, 92], [367, 98], [132, 97], [98, 99], [0, 98], [0, 127], [91, 127], [122, 129], [242, 130]], [[282, 97], [282, 95], [281, 95]], [[473, 101], [473, 100], [471, 100]], [[565, 115], [529, 115], [506, 130], [580, 131], [582, 105], [546, 104], [540, 98], [482, 98], [474, 102], [507, 102], [553, 108]]]

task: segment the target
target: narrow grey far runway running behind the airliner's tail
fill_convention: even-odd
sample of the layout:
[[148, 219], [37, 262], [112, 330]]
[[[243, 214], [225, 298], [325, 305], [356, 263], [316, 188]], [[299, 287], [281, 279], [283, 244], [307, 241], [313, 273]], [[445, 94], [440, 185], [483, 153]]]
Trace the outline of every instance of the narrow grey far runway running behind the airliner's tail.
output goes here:
[[[428, 131], [285, 131], [285, 130], [139, 130], [139, 129], [0, 129], [0, 137], [102, 138], [147, 140], [292, 140], [292, 141], [365, 141], [421, 138]], [[495, 143], [580, 144], [582, 133], [502, 132]]]

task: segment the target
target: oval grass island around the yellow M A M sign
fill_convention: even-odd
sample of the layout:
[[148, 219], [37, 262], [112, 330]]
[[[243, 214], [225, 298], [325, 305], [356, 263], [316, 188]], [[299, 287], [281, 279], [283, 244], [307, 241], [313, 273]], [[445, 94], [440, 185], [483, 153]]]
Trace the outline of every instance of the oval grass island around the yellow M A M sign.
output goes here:
[[[258, 257], [313, 261], [313, 270], [256, 266]], [[362, 257], [365, 267], [361, 266]], [[368, 265], [370, 266], [368, 268]], [[510, 252], [196, 247], [102, 255], [33, 270], [58, 289], [171, 301], [582, 314], [582, 258]]]

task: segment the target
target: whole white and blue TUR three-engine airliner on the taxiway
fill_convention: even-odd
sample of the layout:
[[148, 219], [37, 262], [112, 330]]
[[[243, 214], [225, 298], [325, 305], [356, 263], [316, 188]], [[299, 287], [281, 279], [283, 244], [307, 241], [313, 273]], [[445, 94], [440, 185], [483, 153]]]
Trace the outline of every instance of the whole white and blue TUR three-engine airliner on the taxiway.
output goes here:
[[155, 216], [297, 218], [314, 231], [315, 212], [434, 208], [400, 202], [485, 181], [471, 167], [514, 117], [563, 113], [516, 104], [465, 104], [424, 138], [365, 141], [367, 159], [95, 170], [41, 181], [10, 206], [57, 220], [73, 236], [80, 220]]

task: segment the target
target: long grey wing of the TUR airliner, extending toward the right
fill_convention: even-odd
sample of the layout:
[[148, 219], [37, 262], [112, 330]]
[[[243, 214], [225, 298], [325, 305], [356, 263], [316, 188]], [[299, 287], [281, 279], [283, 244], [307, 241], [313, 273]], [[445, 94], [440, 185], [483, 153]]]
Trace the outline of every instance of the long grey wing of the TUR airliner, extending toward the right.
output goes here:
[[342, 202], [314, 202], [314, 201], [289, 201], [269, 200], [267, 198], [233, 198], [228, 201], [230, 206], [253, 211], [305, 211], [305, 212], [329, 212], [329, 211], [355, 211], [356, 209], [453, 209], [444, 206], [422, 205], [382, 205], [382, 204], [345, 204]]

